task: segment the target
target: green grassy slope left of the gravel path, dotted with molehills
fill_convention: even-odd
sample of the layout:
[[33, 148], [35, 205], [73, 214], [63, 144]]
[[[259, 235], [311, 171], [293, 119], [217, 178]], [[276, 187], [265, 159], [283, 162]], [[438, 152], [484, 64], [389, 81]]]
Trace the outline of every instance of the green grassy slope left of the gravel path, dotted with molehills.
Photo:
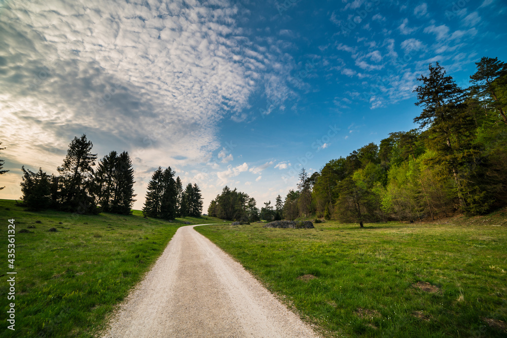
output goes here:
[[[222, 222], [212, 217], [174, 222], [133, 215], [78, 215], [28, 212], [14, 201], [0, 200], [3, 252], [0, 271], [3, 328], [1, 337], [91, 337], [114, 305], [150, 270], [184, 221]], [[14, 218], [16, 331], [6, 329], [7, 226]], [[35, 221], [41, 221], [36, 223]], [[62, 224], [59, 224], [61, 222]], [[20, 233], [28, 226], [32, 233]], [[57, 232], [48, 232], [50, 228]]]

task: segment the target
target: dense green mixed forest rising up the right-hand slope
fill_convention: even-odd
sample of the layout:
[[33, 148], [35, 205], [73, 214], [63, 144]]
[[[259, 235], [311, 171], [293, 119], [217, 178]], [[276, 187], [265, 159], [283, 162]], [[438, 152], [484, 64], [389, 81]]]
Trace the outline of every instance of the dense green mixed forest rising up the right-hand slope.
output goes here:
[[287, 219], [347, 222], [481, 214], [507, 205], [507, 66], [476, 62], [469, 88], [439, 65], [417, 78], [419, 128], [393, 132], [309, 174], [287, 194]]

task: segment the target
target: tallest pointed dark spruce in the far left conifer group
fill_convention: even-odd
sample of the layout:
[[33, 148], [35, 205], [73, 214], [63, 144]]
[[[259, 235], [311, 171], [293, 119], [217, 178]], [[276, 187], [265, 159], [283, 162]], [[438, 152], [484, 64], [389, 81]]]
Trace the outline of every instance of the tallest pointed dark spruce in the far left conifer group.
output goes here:
[[74, 137], [67, 149], [63, 165], [58, 167], [61, 205], [64, 210], [78, 213], [98, 212], [91, 196], [94, 191], [93, 166], [97, 159], [97, 155], [91, 153], [92, 146], [85, 134], [80, 138]]

